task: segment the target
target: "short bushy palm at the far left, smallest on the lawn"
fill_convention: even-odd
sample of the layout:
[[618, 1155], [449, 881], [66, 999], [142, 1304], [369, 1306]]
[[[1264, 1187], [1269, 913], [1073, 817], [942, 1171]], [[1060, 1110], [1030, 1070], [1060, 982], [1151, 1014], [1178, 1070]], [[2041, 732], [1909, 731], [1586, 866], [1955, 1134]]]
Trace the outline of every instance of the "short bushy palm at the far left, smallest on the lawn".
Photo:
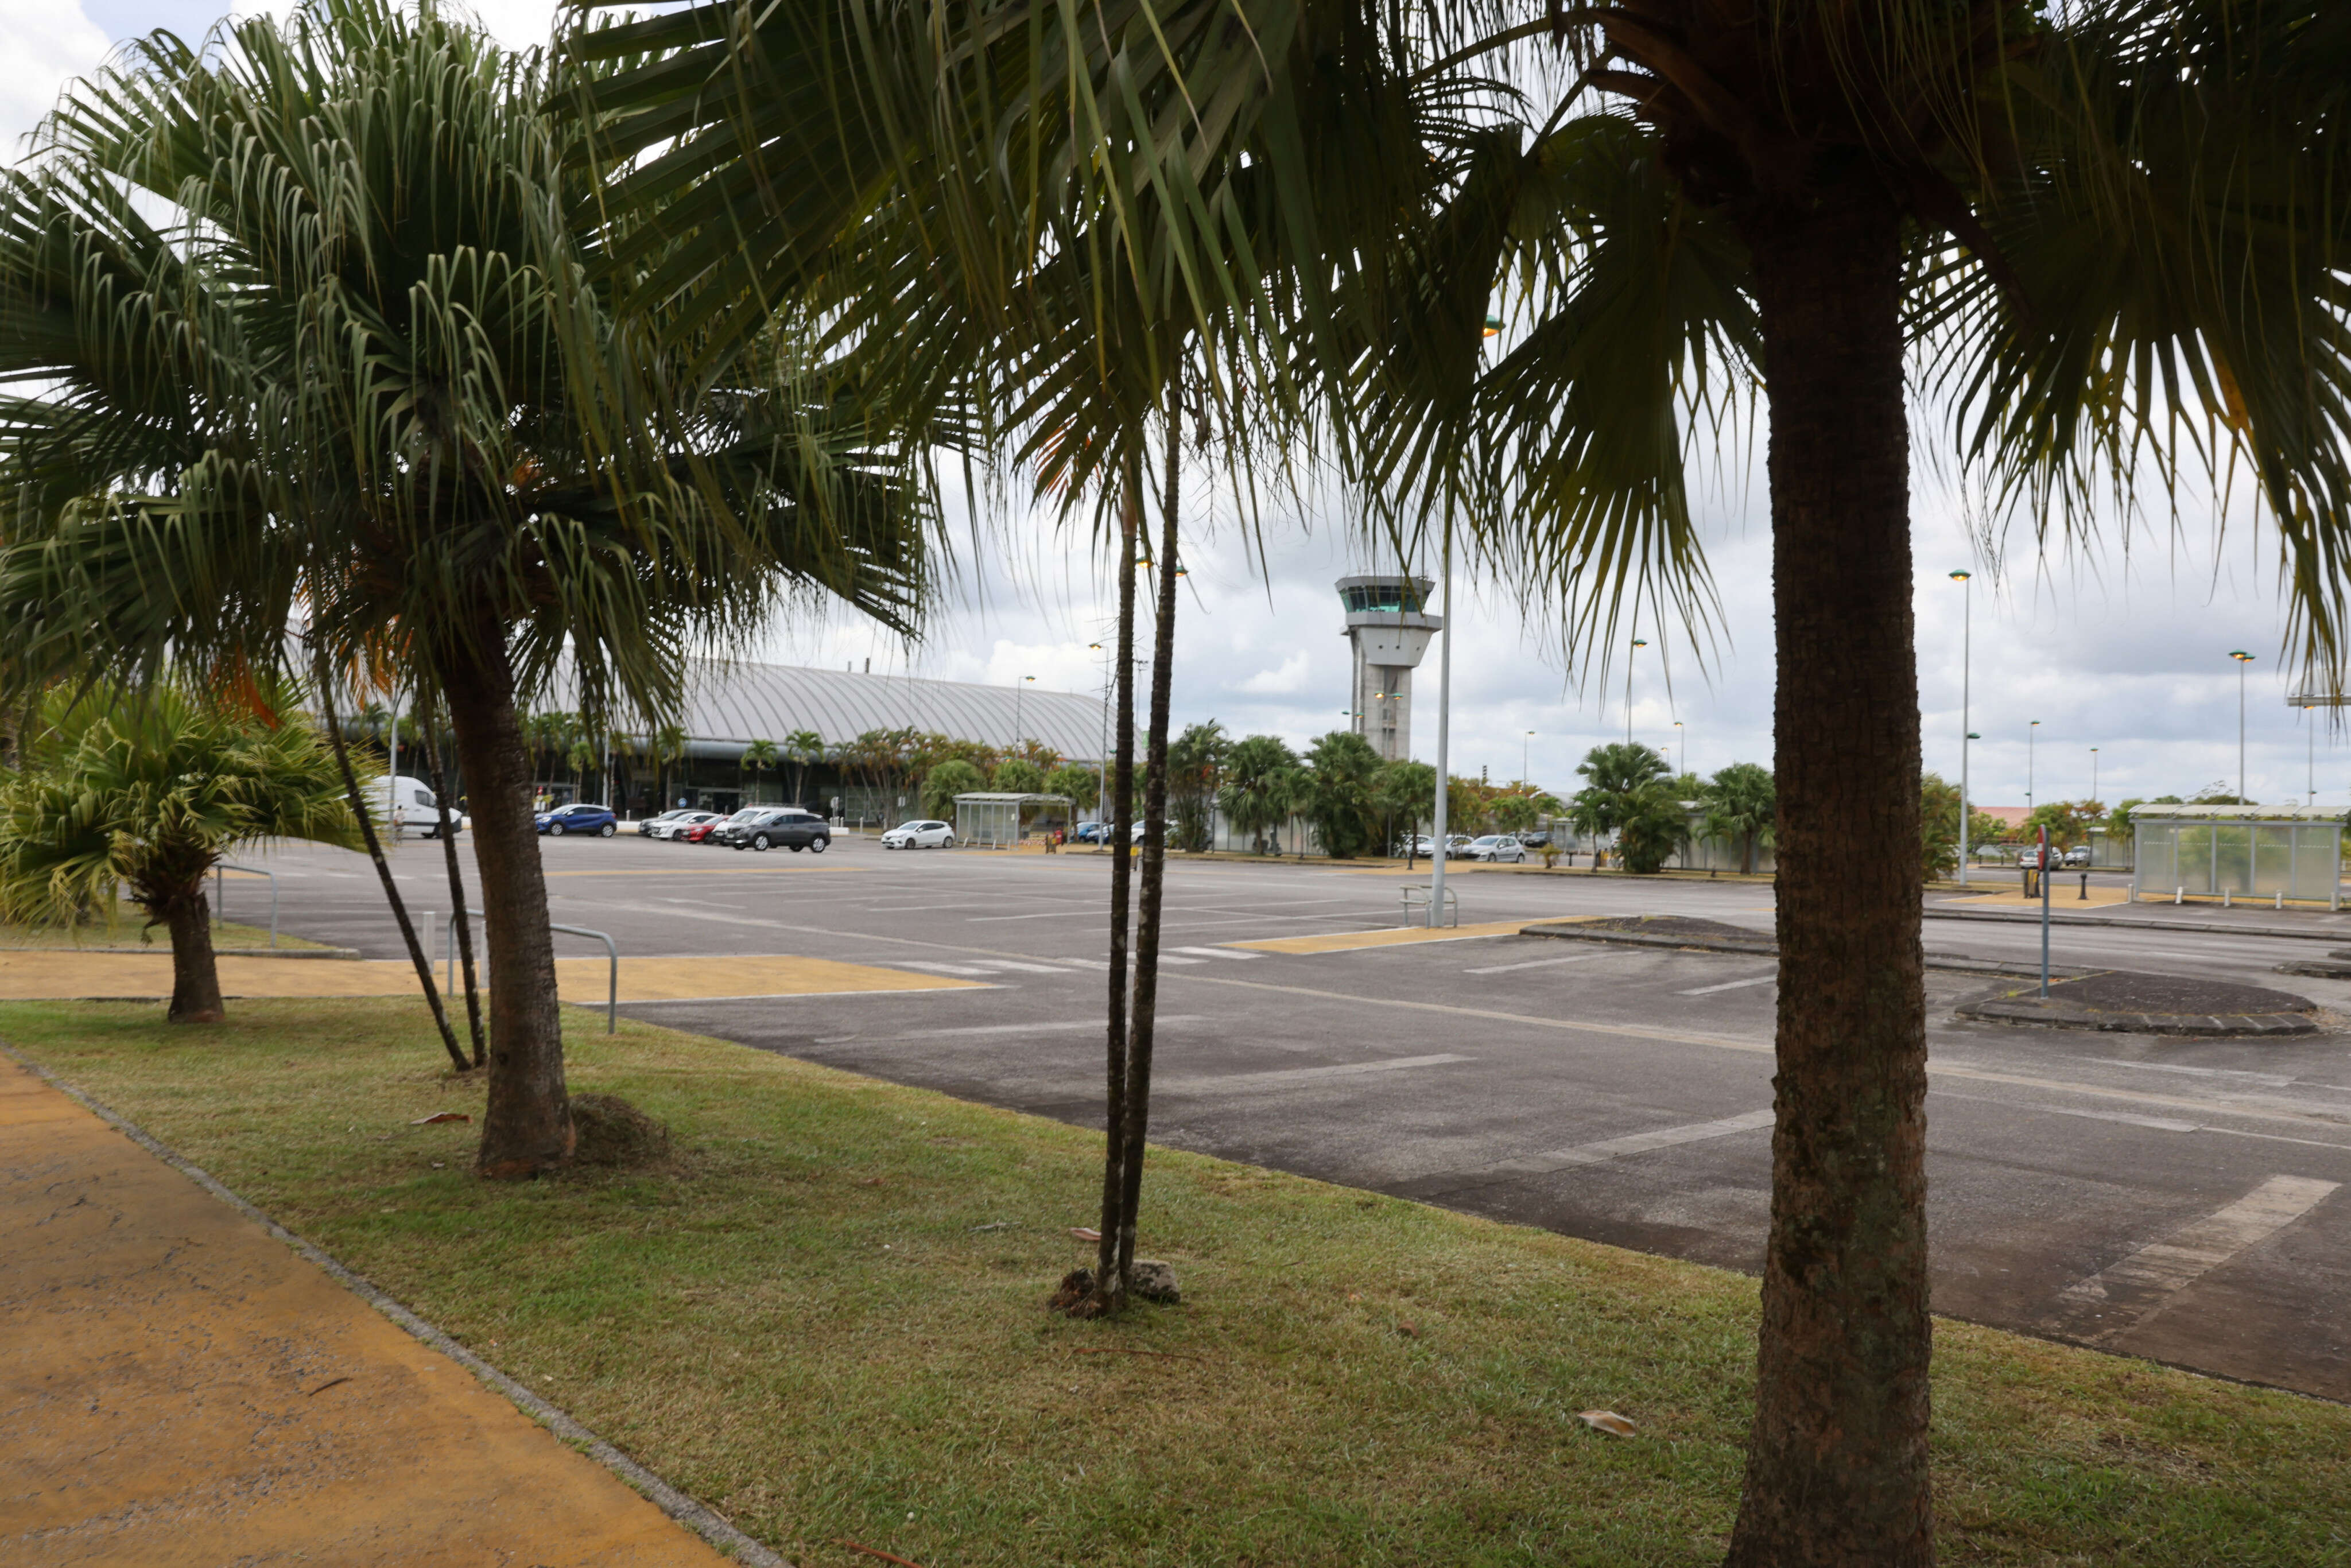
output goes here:
[[334, 757], [292, 691], [59, 686], [26, 736], [24, 771], [0, 790], [0, 910], [73, 924], [127, 891], [172, 936], [167, 1018], [219, 1023], [205, 877], [270, 839], [360, 842]]

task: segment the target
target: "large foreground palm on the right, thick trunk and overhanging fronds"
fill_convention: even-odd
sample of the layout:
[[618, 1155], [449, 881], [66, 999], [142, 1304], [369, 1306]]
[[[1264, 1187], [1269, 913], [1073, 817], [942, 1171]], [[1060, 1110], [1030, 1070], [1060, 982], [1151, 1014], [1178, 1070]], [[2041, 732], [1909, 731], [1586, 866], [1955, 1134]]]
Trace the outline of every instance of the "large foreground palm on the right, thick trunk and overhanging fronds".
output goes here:
[[[1091, 233], [1166, 261], [1171, 296], [1281, 317], [1267, 339], [1298, 374], [1258, 386], [1319, 390], [1366, 489], [1549, 578], [1578, 649], [1613, 646], [1643, 597], [1704, 614], [1690, 421], [1759, 400], [1784, 985], [1730, 1554], [1923, 1563], [1921, 872], [1831, 853], [1918, 835], [1904, 371], [1994, 496], [2059, 529], [2095, 524], [2116, 487], [2243, 463], [2285, 545], [2295, 639], [2339, 682], [2335, 9], [1103, 0], [1072, 38], [1044, 0], [785, 0], [743, 26], [701, 5], [614, 31], [679, 49], [614, 101], [658, 103], [637, 146], [679, 134], [663, 179], [715, 212], [757, 212], [769, 148], [818, 127], [832, 179], [795, 212], [842, 221], [900, 176], [943, 214], [924, 254], [1002, 315], [1030, 277], [1002, 252], [1039, 193], [1098, 190]], [[712, 233], [698, 266], [750, 287], [842, 226]], [[872, 270], [896, 277], [893, 254]], [[1486, 364], [1498, 287], [1514, 322]]]

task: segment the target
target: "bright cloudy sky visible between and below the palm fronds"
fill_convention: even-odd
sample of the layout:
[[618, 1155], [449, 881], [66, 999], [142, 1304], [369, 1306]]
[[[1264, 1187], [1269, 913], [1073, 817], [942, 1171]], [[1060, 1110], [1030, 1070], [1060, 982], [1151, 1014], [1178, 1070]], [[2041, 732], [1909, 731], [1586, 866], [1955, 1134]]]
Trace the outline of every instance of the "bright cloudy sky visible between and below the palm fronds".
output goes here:
[[[247, 9], [259, 9], [247, 0]], [[543, 38], [543, 0], [491, 0], [477, 14], [508, 42]], [[0, 35], [16, 66], [0, 75], [0, 134], [9, 146], [33, 127], [59, 87], [134, 33], [172, 28], [197, 38], [219, 7], [205, 0], [0, 0]], [[1933, 430], [1933, 425], [1921, 425]], [[1709, 465], [1712, 468], [1712, 465]], [[1733, 461], [1735, 473], [1744, 463]], [[1347, 708], [1347, 644], [1333, 578], [1366, 569], [1333, 501], [1262, 517], [1262, 557], [1218, 508], [1206, 477], [1192, 484], [1183, 604], [1178, 611], [1176, 715], [1220, 719], [1232, 733], [1270, 731], [1307, 741], [1340, 726]], [[1972, 795], [2022, 804], [2027, 769], [2038, 799], [2102, 799], [2233, 785], [2238, 769], [2238, 665], [2245, 679], [2248, 788], [2257, 799], [2302, 799], [2309, 731], [2283, 705], [2276, 538], [2236, 524], [2217, 536], [2205, 512], [2179, 527], [2161, 517], [2125, 552], [2041, 557], [2020, 527], [2003, 559], [1970, 543], [1963, 508], [1921, 477], [1918, 701], [1925, 764], [1958, 773], [1961, 616], [1972, 583]], [[1672, 625], [1643, 625], [1650, 642], [1632, 668], [1632, 733], [1704, 773], [1726, 762], [1770, 759], [1770, 538], [1761, 487], [1730, 482], [1702, 498], [1707, 550], [1721, 590], [1716, 637], [1704, 646]], [[966, 520], [969, 522], [969, 520]], [[955, 602], [924, 639], [903, 646], [846, 618], [776, 628], [766, 656], [788, 663], [863, 663], [950, 679], [1098, 691], [1110, 602], [1091, 541], [1051, 522], [990, 517], [959, 529]], [[1382, 562], [1385, 564], [1385, 562]], [[1422, 569], [1427, 564], [1422, 562]], [[1570, 679], [1559, 618], [1528, 618], [1505, 585], [1455, 581], [1453, 769], [1516, 778], [1521, 748], [1538, 783], [1573, 788], [1582, 752], [1625, 733], [1625, 663], [1606, 684]], [[1415, 677], [1415, 752], [1434, 757], [1436, 651]], [[1587, 661], [1578, 661], [1582, 665]], [[1674, 722], [1681, 719], [1681, 731]], [[2031, 731], [2031, 719], [2041, 719]], [[1533, 736], [1528, 736], [1533, 731]], [[2038, 741], [2029, 745], [2027, 736]], [[2092, 750], [2097, 755], [2092, 759]], [[2316, 799], [2351, 804], [2351, 748], [2316, 733]]]

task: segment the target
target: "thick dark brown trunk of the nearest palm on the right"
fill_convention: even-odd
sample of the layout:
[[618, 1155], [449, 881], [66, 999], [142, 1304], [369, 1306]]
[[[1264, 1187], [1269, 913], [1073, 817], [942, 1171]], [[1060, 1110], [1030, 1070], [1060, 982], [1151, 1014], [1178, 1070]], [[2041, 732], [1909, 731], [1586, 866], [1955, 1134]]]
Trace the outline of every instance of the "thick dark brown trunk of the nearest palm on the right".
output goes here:
[[1925, 990], [1900, 212], [1869, 179], [1742, 223], [1770, 388], [1780, 1027], [1735, 1568], [1935, 1561]]

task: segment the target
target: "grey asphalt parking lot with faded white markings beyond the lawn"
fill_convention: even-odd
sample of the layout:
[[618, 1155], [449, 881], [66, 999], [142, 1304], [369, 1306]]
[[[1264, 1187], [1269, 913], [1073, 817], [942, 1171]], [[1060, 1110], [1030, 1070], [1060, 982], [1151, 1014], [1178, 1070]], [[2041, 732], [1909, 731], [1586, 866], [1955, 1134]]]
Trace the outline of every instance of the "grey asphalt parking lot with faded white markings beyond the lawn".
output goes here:
[[[1074, 1124], [1100, 1121], [1103, 856], [729, 853], [639, 839], [545, 846], [555, 919], [621, 952], [804, 954], [976, 980], [966, 990], [649, 1001], [628, 1011], [745, 1046]], [[397, 853], [444, 910], [440, 849]], [[282, 851], [284, 922], [397, 957], [364, 860]], [[1168, 872], [1154, 1138], [1502, 1220], [1756, 1269], [1770, 1194], [1770, 959], [1483, 936], [1340, 952], [1232, 943], [1396, 924], [1406, 877], [1333, 865]], [[1415, 877], [1413, 882], [1425, 882]], [[1702, 914], [1770, 926], [1761, 884], [1458, 877], [1462, 919]], [[230, 889], [252, 919], [259, 884]], [[2128, 910], [2069, 926], [2059, 964], [2276, 985], [2351, 1013], [2351, 985], [2285, 980], [2351, 917], [2233, 912], [2231, 931]], [[2208, 922], [2210, 924], [2210, 922]], [[560, 943], [562, 952], [588, 952]], [[2027, 959], [2027, 924], [1933, 917], [1928, 950]], [[1930, 1227], [1940, 1312], [2351, 1399], [2351, 1037], [2158, 1039], [1951, 1018], [1975, 976], [1933, 973]], [[1084, 1222], [1086, 1194], [1070, 1215]], [[1018, 1215], [1030, 1218], [1030, 1215]]]

